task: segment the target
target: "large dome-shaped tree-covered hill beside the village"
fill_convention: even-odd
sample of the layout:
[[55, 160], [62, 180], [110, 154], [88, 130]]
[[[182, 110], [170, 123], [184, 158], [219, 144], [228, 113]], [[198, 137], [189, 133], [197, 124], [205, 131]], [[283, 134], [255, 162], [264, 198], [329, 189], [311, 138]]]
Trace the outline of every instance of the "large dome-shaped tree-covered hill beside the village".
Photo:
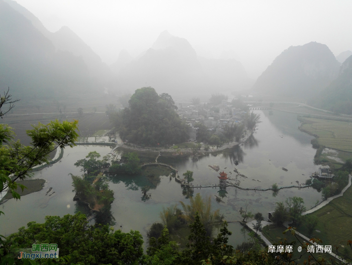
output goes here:
[[124, 141], [146, 146], [178, 144], [188, 139], [188, 128], [175, 109], [170, 95], [159, 96], [154, 88], [143, 87], [131, 96], [121, 117], [116, 115], [112, 121]]

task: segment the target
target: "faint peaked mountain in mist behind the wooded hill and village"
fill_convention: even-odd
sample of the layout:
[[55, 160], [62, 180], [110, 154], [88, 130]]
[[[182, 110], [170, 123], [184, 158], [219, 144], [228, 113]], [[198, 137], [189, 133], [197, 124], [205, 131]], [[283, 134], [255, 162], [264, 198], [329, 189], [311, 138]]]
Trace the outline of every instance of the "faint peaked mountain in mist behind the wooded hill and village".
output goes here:
[[172, 95], [187, 92], [192, 97], [190, 93], [219, 88], [236, 90], [251, 81], [241, 63], [234, 59], [198, 57], [186, 39], [167, 31], [161, 32], [151, 48], [130, 63], [128, 60], [130, 57], [125, 52], [120, 53], [118, 61], [111, 66], [122, 89], [152, 86]]

